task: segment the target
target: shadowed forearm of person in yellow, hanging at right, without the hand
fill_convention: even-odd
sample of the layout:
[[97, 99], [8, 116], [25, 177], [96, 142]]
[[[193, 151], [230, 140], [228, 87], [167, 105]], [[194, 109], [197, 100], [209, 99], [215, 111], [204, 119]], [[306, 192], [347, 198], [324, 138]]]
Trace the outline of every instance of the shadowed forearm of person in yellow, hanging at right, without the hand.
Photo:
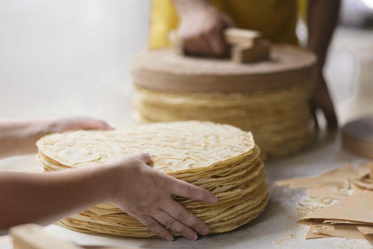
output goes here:
[[341, 0], [310, 0], [308, 7], [307, 48], [317, 55], [319, 69], [322, 69], [327, 49], [338, 23]]

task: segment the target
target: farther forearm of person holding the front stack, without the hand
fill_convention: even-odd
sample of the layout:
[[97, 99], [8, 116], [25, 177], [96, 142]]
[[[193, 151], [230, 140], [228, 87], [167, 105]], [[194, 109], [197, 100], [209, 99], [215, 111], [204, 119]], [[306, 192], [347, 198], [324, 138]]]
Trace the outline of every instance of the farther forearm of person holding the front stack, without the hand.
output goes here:
[[52, 119], [0, 119], [0, 158], [37, 152], [36, 141], [55, 126]]

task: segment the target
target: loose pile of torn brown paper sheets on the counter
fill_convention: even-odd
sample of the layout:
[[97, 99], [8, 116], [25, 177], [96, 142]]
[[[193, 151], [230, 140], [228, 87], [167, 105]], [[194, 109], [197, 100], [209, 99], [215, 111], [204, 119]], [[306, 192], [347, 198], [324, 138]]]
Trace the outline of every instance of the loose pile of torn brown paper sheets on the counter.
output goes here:
[[356, 170], [352, 165], [345, 165], [314, 177], [291, 178], [275, 184], [306, 189], [311, 199], [336, 200], [330, 206], [320, 205], [300, 219], [312, 220], [306, 239], [345, 237], [373, 240], [372, 171], [373, 162], [366, 162]]

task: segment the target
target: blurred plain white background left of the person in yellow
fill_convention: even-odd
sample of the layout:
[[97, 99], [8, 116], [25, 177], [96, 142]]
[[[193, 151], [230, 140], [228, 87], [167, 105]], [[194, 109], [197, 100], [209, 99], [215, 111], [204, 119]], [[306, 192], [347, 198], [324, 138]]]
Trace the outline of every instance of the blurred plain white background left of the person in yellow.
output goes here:
[[145, 0], [1, 0], [0, 116], [125, 122], [148, 13]]

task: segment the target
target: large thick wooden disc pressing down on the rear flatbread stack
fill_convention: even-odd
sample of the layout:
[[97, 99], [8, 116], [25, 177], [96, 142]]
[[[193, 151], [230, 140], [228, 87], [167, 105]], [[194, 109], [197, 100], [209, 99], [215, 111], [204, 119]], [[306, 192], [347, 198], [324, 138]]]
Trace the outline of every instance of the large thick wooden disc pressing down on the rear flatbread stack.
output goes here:
[[230, 59], [178, 55], [173, 49], [140, 53], [132, 60], [135, 84], [170, 91], [257, 91], [307, 84], [316, 56], [291, 45], [272, 45], [270, 59], [238, 64]]

